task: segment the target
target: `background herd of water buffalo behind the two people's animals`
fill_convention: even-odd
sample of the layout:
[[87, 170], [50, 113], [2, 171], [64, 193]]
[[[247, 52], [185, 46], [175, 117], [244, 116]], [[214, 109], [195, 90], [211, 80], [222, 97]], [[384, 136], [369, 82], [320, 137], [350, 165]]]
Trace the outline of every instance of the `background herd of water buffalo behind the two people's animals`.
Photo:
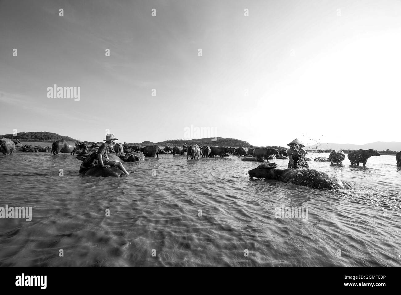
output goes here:
[[[96, 152], [98, 148], [97, 143], [88, 143], [84, 141], [70, 141], [70, 140], [56, 140], [53, 142], [52, 147], [36, 145], [22, 145], [18, 139], [8, 139], [3, 137], [0, 139], [0, 151], [4, 155], [12, 154], [14, 150], [21, 152], [50, 152], [52, 155], [59, 153], [71, 153], [71, 155], [87, 154], [89, 152]], [[173, 155], [187, 155], [187, 159], [191, 158], [214, 158], [214, 157], [227, 157], [233, 156], [244, 156], [244, 161], [256, 161], [264, 162], [264, 160], [273, 159], [288, 159], [286, 149], [268, 149], [266, 147], [260, 148], [247, 148], [247, 147], [225, 147], [225, 146], [209, 146], [203, 145], [199, 147], [197, 144], [188, 145], [187, 147], [174, 146], [170, 147], [166, 145], [164, 149], [161, 149], [158, 145], [127, 145], [122, 143], [115, 143], [109, 146], [109, 152], [115, 153], [119, 158], [129, 162], [135, 162], [140, 159], [139, 154], [143, 154], [146, 157], [158, 157], [159, 154], [173, 154]], [[348, 159], [352, 165], [359, 166], [363, 163], [365, 166], [368, 158], [371, 156], [380, 156], [379, 152], [375, 150], [356, 150], [348, 152]], [[401, 152], [396, 155], [397, 166], [401, 167]], [[331, 162], [332, 164], [341, 164], [345, 159], [345, 154], [342, 151], [332, 151], [328, 158], [317, 157], [314, 161], [317, 162]], [[306, 158], [306, 160], [311, 160]]]

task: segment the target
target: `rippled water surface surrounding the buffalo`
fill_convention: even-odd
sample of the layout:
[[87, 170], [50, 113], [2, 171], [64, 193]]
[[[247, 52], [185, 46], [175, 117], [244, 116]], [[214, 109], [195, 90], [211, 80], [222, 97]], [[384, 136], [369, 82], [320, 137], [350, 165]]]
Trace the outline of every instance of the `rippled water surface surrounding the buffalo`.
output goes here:
[[[125, 163], [128, 178], [94, 178], [69, 154], [1, 155], [0, 206], [33, 217], [0, 219], [0, 266], [400, 266], [394, 156], [309, 162], [354, 187], [330, 192], [251, 180], [260, 163], [240, 159], [160, 155]], [[276, 218], [283, 205], [308, 220]]]

